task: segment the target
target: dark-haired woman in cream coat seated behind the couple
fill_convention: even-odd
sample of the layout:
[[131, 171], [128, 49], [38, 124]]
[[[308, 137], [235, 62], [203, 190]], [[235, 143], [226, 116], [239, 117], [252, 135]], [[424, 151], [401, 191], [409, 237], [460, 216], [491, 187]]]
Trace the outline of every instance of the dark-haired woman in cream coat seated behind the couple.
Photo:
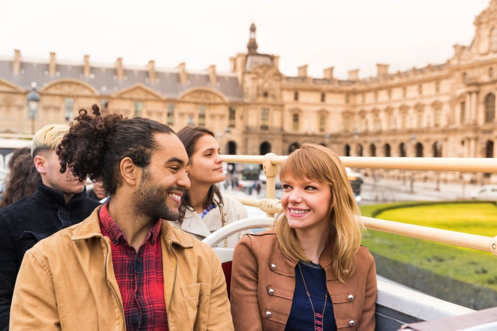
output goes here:
[[[247, 218], [244, 205], [236, 199], [223, 197], [216, 186], [226, 176], [214, 133], [203, 127], [185, 127], [177, 135], [190, 161], [188, 178], [191, 187], [181, 199], [176, 225], [202, 240], [226, 224]], [[219, 246], [234, 248], [242, 235], [230, 236]]]

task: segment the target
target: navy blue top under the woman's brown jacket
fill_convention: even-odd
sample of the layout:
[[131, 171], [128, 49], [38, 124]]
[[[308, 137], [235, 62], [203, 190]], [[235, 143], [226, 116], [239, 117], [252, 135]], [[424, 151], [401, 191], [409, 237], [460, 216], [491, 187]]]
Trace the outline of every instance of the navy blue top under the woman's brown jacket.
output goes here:
[[[311, 294], [314, 311], [317, 314], [323, 314], [325, 293], [328, 297], [323, 317], [324, 321], [319, 317], [316, 318], [316, 321], [324, 322], [324, 325], [316, 324], [317, 329], [314, 328], [312, 306], [306, 295], [306, 288], [304, 287], [299, 265], [302, 268], [307, 288]], [[292, 310], [290, 311], [285, 331], [321, 330], [319, 328], [323, 328], [324, 331], [336, 331], [333, 305], [331, 304], [330, 294], [328, 294], [326, 288], [325, 270], [321, 265], [311, 262], [299, 262], [295, 266], [295, 291], [293, 293]]]

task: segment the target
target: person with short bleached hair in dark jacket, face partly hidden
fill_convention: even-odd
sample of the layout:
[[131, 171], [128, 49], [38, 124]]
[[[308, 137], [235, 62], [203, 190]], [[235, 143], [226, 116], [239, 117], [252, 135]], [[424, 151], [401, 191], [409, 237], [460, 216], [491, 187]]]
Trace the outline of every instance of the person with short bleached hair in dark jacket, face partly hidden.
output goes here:
[[[99, 205], [86, 198], [84, 181], [61, 174], [57, 145], [67, 125], [48, 125], [36, 132], [31, 155], [41, 179], [37, 191], [0, 209], [0, 330], [8, 330], [15, 278], [24, 253], [38, 241], [83, 221]], [[36, 286], [36, 284], [33, 284]]]

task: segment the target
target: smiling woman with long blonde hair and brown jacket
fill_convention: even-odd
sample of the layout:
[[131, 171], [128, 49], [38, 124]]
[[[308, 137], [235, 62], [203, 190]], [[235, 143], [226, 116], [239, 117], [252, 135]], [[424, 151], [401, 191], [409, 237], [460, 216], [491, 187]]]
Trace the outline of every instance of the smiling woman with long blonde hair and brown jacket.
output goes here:
[[280, 170], [274, 228], [238, 242], [231, 279], [235, 330], [375, 329], [374, 258], [361, 243], [343, 163], [306, 143]]

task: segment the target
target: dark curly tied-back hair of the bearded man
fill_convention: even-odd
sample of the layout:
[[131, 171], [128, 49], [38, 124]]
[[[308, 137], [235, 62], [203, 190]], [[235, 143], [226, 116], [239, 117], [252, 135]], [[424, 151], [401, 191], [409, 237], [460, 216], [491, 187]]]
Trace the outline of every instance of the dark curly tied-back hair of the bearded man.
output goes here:
[[150, 157], [159, 148], [154, 134], [172, 133], [165, 124], [135, 117], [106, 113], [100, 115], [96, 104], [93, 115], [81, 109], [57, 147], [61, 173], [70, 168], [80, 180], [101, 181], [105, 192], [114, 195], [121, 185], [119, 164], [125, 157], [142, 168], [150, 164]]

